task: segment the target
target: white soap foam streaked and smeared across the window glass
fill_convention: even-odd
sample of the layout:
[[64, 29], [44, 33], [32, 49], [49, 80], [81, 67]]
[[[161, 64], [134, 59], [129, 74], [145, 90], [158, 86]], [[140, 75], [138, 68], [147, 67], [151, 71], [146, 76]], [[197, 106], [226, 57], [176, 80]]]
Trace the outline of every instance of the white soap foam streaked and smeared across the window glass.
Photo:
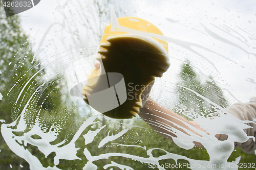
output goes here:
[[[114, 12], [114, 7], [112, 5], [111, 5], [111, 19], [112, 19], [112, 22], [111, 22], [112, 29], [117, 28], [117, 30], [119, 30], [119, 31], [124, 31], [127, 33], [133, 33], [133, 34], [139, 34], [142, 36], [154, 37], [154, 38], [166, 40], [170, 43], [174, 43], [190, 52], [193, 52], [195, 55], [198, 55], [198, 56], [204, 58], [208, 63], [210, 63], [218, 71], [218, 68], [215, 66], [214, 62], [208, 60], [206, 57], [204, 57], [203, 54], [198, 52], [198, 50], [196, 50], [196, 48], [193, 48], [193, 47], [198, 47], [202, 50], [219, 55], [217, 52], [210, 50], [210, 48], [208, 48], [208, 47], [198, 45], [194, 42], [188, 42], [188, 41], [184, 41], [184, 40], [180, 40], [180, 39], [175, 39], [172, 37], [165, 37], [165, 36], [157, 35], [157, 34], [153, 34], [153, 33], [144, 33], [144, 32], [140, 32], [140, 31], [136, 31], [136, 30], [132, 30], [129, 28], [119, 26], [117, 17]], [[64, 21], [63, 21], [63, 23], [58, 23], [57, 25], [60, 25], [62, 28], [65, 27]], [[51, 28], [52, 28], [52, 26], [51, 26]], [[37, 48], [37, 53], [35, 54], [35, 56], [38, 55], [41, 51], [45, 50], [44, 48], [41, 47], [41, 45], [42, 45], [42, 42], [45, 41], [46, 35], [49, 33], [51, 28], [49, 28], [47, 30], [45, 36], [41, 39], [40, 45]], [[210, 36], [213, 36], [216, 39], [218, 39], [224, 43], [228, 43], [229, 45], [236, 46], [243, 52], [247, 53], [248, 55], [251, 54], [250, 52], [247, 52], [247, 50], [245, 50], [245, 48], [237, 46], [237, 45], [231, 43], [230, 41], [227, 41], [226, 39], [221, 38], [220, 36], [214, 35], [214, 33], [212, 33], [212, 31], [210, 31], [208, 29], [208, 26], [204, 26], [204, 28], [206, 30], [206, 33], [209, 34]], [[219, 55], [219, 56], [224, 59], [228, 59], [231, 62], [233, 61], [233, 60], [226, 58], [222, 55]], [[233, 62], [233, 63], [236, 64], [235, 62]], [[34, 74], [34, 76], [32, 76], [23, 85], [23, 88], [19, 89], [18, 97], [17, 97], [16, 101], [14, 101], [14, 106], [18, 106], [20, 104], [19, 101], [22, 101], [22, 99], [25, 98], [24, 92], [27, 89], [32, 90], [32, 88], [28, 87], [28, 84], [31, 81], [33, 81], [33, 79], [35, 77], [37, 77], [37, 75], [40, 73], [40, 71], [41, 70], [38, 70]], [[1, 75], [1, 76], [3, 76], [3, 75]], [[9, 92], [14, 90], [17, 85], [18, 85], [18, 83], [14, 84], [14, 86], [9, 90]], [[175, 85], [175, 84], [173, 84], [173, 85]], [[42, 88], [45, 87], [45, 82], [42, 82], [40, 87], [42, 87]], [[183, 87], [183, 88], [185, 88], [185, 87]], [[134, 147], [136, 149], [142, 148], [148, 157], [136, 156], [136, 155], [133, 155], [133, 153], [104, 153], [104, 154], [102, 153], [102, 154], [99, 154], [96, 156], [92, 156], [93, 153], [90, 153], [89, 150], [87, 148], [85, 148], [83, 150], [83, 154], [88, 159], [88, 162], [86, 162], [84, 164], [83, 169], [101, 168], [101, 167], [97, 167], [94, 162], [97, 160], [101, 160], [101, 159], [108, 159], [110, 157], [130, 158], [130, 159], [139, 161], [141, 163], [146, 163], [146, 164], [152, 163], [152, 164], [156, 164], [156, 165], [160, 165], [159, 162], [161, 160], [166, 160], [166, 159], [174, 159], [176, 162], [179, 159], [183, 159], [183, 160], [187, 160], [191, 165], [216, 164], [217, 167], [218, 167], [218, 165], [223, 164], [223, 163], [225, 163], [225, 165], [227, 165], [227, 162], [228, 162], [227, 159], [234, 149], [234, 142], [245, 142], [249, 138], [253, 138], [252, 136], [247, 136], [245, 134], [245, 132], [243, 131], [243, 129], [250, 128], [250, 126], [248, 126], [247, 123], [248, 122], [253, 123], [253, 121], [239, 120], [238, 118], [234, 117], [231, 113], [229, 113], [227, 110], [225, 110], [224, 108], [221, 108], [217, 104], [209, 101], [207, 98], [204, 98], [202, 95], [198, 94], [197, 92], [195, 92], [191, 89], [188, 89], [188, 88], [186, 88], [186, 89], [197, 94], [198, 96], [200, 96], [200, 98], [204, 99], [206, 102], [212, 104], [215, 109], [220, 110], [220, 114], [219, 114], [220, 116], [217, 116], [214, 118], [198, 116], [197, 118], [194, 119], [194, 121], [197, 122], [199, 125], [201, 125], [201, 127], [203, 129], [205, 129], [206, 132], [209, 134], [199, 131], [199, 130], [195, 129], [194, 127], [191, 127], [186, 124], [189, 128], [193, 129], [195, 132], [197, 132], [201, 136], [191, 133], [187, 129], [179, 127], [179, 128], [182, 128], [184, 131], [186, 131], [189, 135], [186, 135], [177, 129], [172, 129], [175, 132], [175, 134], [177, 135], [177, 137], [173, 137], [173, 140], [179, 147], [181, 147], [183, 149], [187, 149], [187, 150], [194, 147], [194, 145], [195, 145], [193, 143], [194, 141], [201, 142], [204, 145], [205, 149], [207, 150], [207, 153], [209, 154], [210, 159], [208, 161], [191, 159], [186, 156], [169, 153], [160, 148], [146, 149], [144, 147], [141, 147], [140, 145], [124, 145], [124, 144], [117, 143], [117, 139], [120, 139], [127, 132], [131, 132], [131, 129], [126, 128], [126, 129], [122, 130], [121, 132], [119, 132], [118, 134], [111, 135], [111, 132], [109, 131], [108, 135], [105, 136], [99, 142], [98, 148], [104, 147], [106, 145], [106, 143], [108, 143], [108, 142], [113, 142], [112, 144], [121, 145], [123, 147]], [[19, 116], [16, 118], [16, 120], [14, 120], [14, 122], [12, 122], [10, 124], [5, 124], [5, 120], [0, 120], [0, 122], [3, 123], [1, 126], [1, 133], [5, 139], [5, 142], [7, 143], [8, 147], [17, 156], [25, 159], [29, 163], [30, 169], [32, 169], [32, 170], [33, 169], [36, 169], [36, 170], [59, 169], [56, 166], [59, 164], [60, 159], [81, 160], [81, 158], [76, 155], [77, 151], [80, 148], [76, 148], [75, 142], [78, 140], [79, 136], [82, 135], [84, 130], [87, 129], [88, 127], [90, 127], [91, 125], [95, 125], [96, 127], [98, 127], [98, 129], [96, 129], [94, 131], [88, 131], [85, 135], [82, 135], [83, 138], [85, 139], [84, 144], [86, 146], [88, 146], [90, 143], [95, 141], [94, 137], [97, 134], [101, 134], [102, 131], [108, 130], [108, 129], [106, 129], [105, 125], [101, 125], [99, 122], [96, 121], [96, 119], [99, 118], [98, 115], [91, 116], [86, 121], [84, 121], [84, 123], [80, 126], [80, 128], [77, 130], [77, 132], [73, 136], [72, 140], [68, 144], [64, 144], [66, 142], [65, 140], [63, 140], [57, 144], [54, 144], [54, 145], [50, 144], [50, 142], [54, 141], [57, 138], [57, 136], [59, 135], [59, 131], [61, 131], [61, 126], [58, 124], [53, 124], [50, 126], [50, 129], [54, 129], [54, 131], [49, 131], [49, 132], [44, 131], [44, 126], [40, 123], [40, 116], [39, 116], [41, 114], [40, 109], [37, 110], [37, 112], [36, 112], [37, 117], [35, 120], [35, 124], [31, 127], [31, 129], [28, 132], [25, 132], [22, 136], [16, 136], [13, 133], [13, 132], [24, 132], [26, 130], [26, 128], [28, 126], [28, 122], [25, 117], [29, 114], [28, 107], [29, 106], [31, 106], [32, 108], [36, 107], [36, 104], [33, 102], [33, 98], [37, 94], [38, 91], [39, 91], [39, 89], [34, 89], [33, 93], [29, 96], [29, 100], [26, 101], [25, 104], [21, 103], [21, 104], [24, 104], [24, 107], [23, 107], [23, 109], [21, 109], [20, 112], [16, 113], [16, 114], [19, 114]], [[19, 110], [17, 109], [17, 111], [19, 111]], [[191, 115], [196, 114], [195, 112], [193, 112], [193, 110], [190, 110], [188, 112], [190, 112]], [[226, 113], [226, 114], [224, 114], [224, 113]], [[171, 118], [173, 118], [173, 117], [170, 117], [170, 119]], [[255, 121], [255, 119], [254, 119], [254, 121]], [[124, 125], [124, 124], [122, 124], [122, 125]], [[176, 125], [176, 126], [178, 126], [178, 125]], [[137, 127], [131, 126], [131, 127], [140, 128], [138, 126]], [[168, 128], [169, 128], [168, 126], [165, 127], [165, 129], [168, 129]], [[170, 129], [168, 129], [168, 130], [170, 130]], [[228, 138], [224, 141], [220, 141], [215, 137], [216, 134], [226, 134], [228, 136]], [[33, 135], [38, 135], [38, 136], [40, 136], [41, 139], [33, 139], [31, 137]], [[137, 136], [138, 136], [138, 134], [137, 134]], [[24, 141], [24, 143], [23, 143], [23, 141]], [[32, 155], [32, 153], [30, 153], [27, 149], [25, 149], [26, 145], [28, 145], [28, 144], [37, 147], [38, 150], [45, 155], [45, 157], [47, 157], [50, 153], [55, 152], [56, 156], [54, 157], [54, 166], [53, 167], [42, 166], [39, 158], [35, 157], [34, 155]], [[160, 156], [160, 157], [154, 157], [153, 156], [154, 150], [161, 150], [161, 151], [165, 152], [166, 154], [163, 156]], [[239, 161], [240, 161], [240, 157], [238, 157], [232, 163], [239, 163]], [[12, 165], [10, 164], [10, 167], [11, 166]], [[22, 167], [22, 165], [20, 165], [20, 167]], [[108, 167], [119, 167], [121, 169], [124, 169], [124, 168], [133, 169], [132, 167], [129, 167], [129, 165], [121, 165], [116, 162], [111, 162], [110, 164], [107, 164], [104, 166], [104, 168], [108, 168]], [[164, 169], [164, 168], [159, 166], [159, 169]], [[196, 168], [191, 168], [191, 169], [196, 169]]]

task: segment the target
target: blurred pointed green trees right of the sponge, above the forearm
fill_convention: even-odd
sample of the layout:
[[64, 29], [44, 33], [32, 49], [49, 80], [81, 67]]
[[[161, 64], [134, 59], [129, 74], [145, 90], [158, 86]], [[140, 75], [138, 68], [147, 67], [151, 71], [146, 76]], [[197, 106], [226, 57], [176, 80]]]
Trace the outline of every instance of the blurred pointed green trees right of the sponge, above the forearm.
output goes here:
[[178, 97], [176, 113], [186, 116], [186, 112], [193, 111], [206, 117], [215, 115], [218, 107], [226, 108], [228, 106], [222, 89], [214, 79], [209, 76], [208, 80], [202, 82], [188, 60], [182, 64], [178, 78], [179, 81], [175, 89]]

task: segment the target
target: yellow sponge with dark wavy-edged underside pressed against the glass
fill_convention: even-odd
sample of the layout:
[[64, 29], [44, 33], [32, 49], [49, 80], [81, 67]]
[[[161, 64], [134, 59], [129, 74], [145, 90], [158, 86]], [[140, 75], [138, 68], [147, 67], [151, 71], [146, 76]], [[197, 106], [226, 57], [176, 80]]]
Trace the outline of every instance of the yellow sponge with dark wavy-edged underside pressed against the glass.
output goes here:
[[[118, 18], [118, 22], [123, 27], [163, 35], [156, 26], [141, 18], [121, 17]], [[140, 97], [144, 88], [154, 81], [155, 77], [162, 77], [169, 67], [167, 42], [138, 34], [112, 32], [110, 25], [105, 27], [98, 53], [100, 56], [97, 60], [100, 62], [100, 68], [94, 68], [88, 76], [91, 81], [89, 80], [84, 86], [82, 93], [84, 101], [90, 104], [88, 96], [99, 92], [98, 89], [104, 83], [102, 74], [108, 75], [109, 72], [116, 72], [123, 76], [126, 100], [123, 103], [118, 101], [118, 105], [115, 105], [113, 109], [102, 113], [112, 118], [136, 116], [139, 108], [142, 107]], [[116, 88], [116, 96], [120, 98]], [[102, 99], [99, 101], [99, 107], [105, 106]]]

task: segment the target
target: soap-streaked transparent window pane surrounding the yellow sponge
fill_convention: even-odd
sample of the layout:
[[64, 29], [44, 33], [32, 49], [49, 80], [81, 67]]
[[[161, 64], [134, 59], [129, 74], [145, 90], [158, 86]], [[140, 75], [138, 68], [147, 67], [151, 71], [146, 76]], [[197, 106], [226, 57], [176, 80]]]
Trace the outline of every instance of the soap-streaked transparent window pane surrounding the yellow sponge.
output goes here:
[[[255, 7], [41, 1], [6, 17], [1, 4], [0, 169], [255, 168]], [[121, 27], [124, 16], [163, 35]], [[97, 112], [79, 91], [110, 24], [168, 43], [170, 66], [131, 119]]]

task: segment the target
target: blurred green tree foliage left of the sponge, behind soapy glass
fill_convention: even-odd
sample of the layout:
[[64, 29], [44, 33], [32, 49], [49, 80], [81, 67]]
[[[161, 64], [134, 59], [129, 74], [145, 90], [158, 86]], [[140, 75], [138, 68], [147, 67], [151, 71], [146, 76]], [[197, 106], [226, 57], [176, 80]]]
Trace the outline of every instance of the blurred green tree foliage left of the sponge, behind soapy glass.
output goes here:
[[[59, 81], [61, 77], [53, 77], [46, 81], [44, 78], [47, 74], [46, 70], [36, 59], [32, 62], [34, 56], [32, 44], [20, 27], [18, 15], [6, 17], [2, 3], [0, 3], [0, 39], [0, 71], [2, 72], [0, 92], [3, 95], [3, 100], [0, 101], [0, 119], [4, 119], [6, 124], [16, 119], [18, 122], [20, 114], [25, 111], [26, 130], [15, 135], [23, 136], [24, 133], [29, 132], [39, 118], [46, 132], [52, 130], [52, 125], [63, 122], [63, 130], [52, 144], [63, 141], [65, 138], [72, 138], [83, 119], [77, 118], [76, 114], [71, 114], [73, 113], [70, 109], [72, 101], [62, 99], [64, 93], [63, 84]], [[40, 113], [39, 117], [38, 113]], [[9, 149], [2, 135], [0, 142], [0, 169], [8, 169], [10, 165], [14, 169], [20, 169], [20, 165], [25, 166], [23, 169], [28, 169], [27, 162]], [[47, 162], [50, 166], [52, 165], [54, 154], [45, 158], [33, 145], [28, 144], [25, 148], [39, 158], [43, 165], [48, 164]]]

